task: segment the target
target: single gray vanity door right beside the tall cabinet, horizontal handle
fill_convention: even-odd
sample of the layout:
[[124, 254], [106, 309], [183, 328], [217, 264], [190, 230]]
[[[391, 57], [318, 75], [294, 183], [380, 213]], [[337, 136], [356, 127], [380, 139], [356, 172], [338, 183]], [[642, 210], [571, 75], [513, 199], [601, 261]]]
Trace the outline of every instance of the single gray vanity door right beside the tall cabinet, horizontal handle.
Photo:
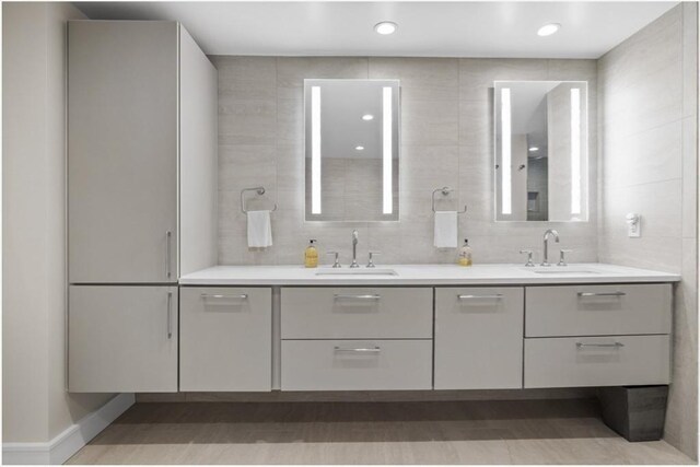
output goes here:
[[180, 390], [271, 390], [271, 289], [182, 288], [180, 305]]

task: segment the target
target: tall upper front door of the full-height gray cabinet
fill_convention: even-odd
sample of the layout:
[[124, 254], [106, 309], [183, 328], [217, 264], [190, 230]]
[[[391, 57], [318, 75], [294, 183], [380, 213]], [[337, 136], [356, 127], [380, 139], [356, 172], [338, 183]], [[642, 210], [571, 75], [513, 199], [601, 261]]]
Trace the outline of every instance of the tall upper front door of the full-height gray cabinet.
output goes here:
[[177, 280], [177, 27], [69, 22], [71, 283]]

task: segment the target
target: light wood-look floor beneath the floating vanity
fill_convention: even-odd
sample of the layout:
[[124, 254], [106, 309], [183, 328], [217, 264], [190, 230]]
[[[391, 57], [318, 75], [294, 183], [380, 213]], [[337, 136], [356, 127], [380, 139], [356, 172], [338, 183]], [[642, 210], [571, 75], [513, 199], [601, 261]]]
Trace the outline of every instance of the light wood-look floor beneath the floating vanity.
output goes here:
[[696, 464], [588, 400], [137, 404], [68, 464]]

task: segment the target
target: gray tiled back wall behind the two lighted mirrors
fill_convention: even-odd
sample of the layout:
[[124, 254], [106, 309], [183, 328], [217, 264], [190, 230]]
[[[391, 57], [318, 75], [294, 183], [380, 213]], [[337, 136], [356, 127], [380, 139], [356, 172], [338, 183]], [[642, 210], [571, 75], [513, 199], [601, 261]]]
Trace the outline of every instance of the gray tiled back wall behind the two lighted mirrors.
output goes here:
[[[301, 264], [308, 238], [349, 262], [350, 232], [360, 233], [359, 258], [381, 250], [377, 262], [453, 262], [456, 250], [433, 247], [431, 191], [457, 190], [453, 207], [467, 205], [459, 237], [469, 237], [476, 262], [517, 262], [518, 249], [541, 249], [547, 226], [559, 230], [572, 261], [597, 260], [595, 60], [453, 59], [375, 57], [211, 57], [219, 69], [220, 236], [222, 265]], [[401, 220], [359, 223], [304, 222], [303, 80], [401, 80]], [[586, 223], [493, 222], [492, 83], [494, 80], [590, 82], [591, 212]], [[238, 191], [264, 185], [272, 217], [273, 246], [249, 249]], [[264, 202], [264, 200], [260, 200]], [[446, 208], [447, 206], [445, 206]], [[556, 252], [555, 252], [556, 255]]]

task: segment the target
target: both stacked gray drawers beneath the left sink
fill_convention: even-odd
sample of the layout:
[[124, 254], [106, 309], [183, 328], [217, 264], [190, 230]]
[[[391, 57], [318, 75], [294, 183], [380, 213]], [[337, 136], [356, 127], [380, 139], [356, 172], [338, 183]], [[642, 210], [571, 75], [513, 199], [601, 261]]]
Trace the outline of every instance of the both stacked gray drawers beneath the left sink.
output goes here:
[[432, 288], [282, 288], [282, 390], [432, 388]]

